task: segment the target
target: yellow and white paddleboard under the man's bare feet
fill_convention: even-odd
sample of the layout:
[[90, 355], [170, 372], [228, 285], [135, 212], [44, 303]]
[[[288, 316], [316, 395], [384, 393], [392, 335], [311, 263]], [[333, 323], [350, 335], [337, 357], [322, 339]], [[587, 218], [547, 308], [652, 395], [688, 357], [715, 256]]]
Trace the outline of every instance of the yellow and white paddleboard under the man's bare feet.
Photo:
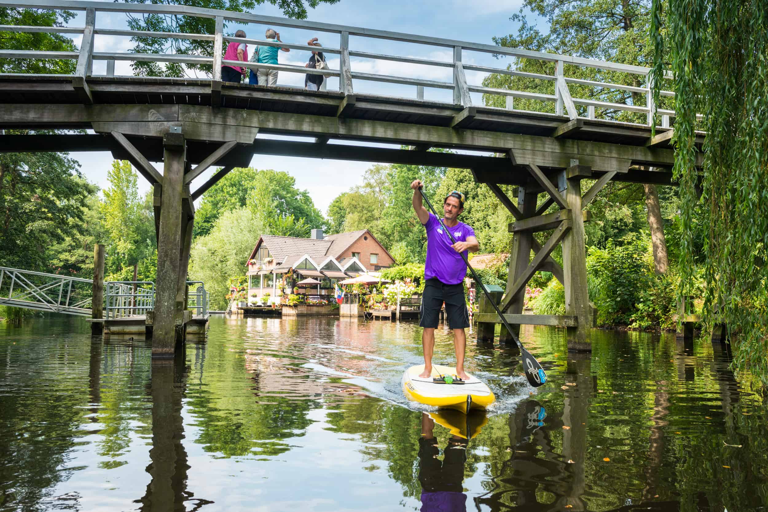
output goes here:
[[473, 409], [483, 410], [496, 400], [484, 382], [469, 374], [469, 379], [463, 384], [433, 381], [442, 375], [455, 378], [456, 368], [432, 365], [432, 375], [428, 378], [419, 377], [423, 371], [424, 365], [416, 365], [402, 374], [402, 392], [409, 400], [437, 408], [455, 409], [464, 414]]

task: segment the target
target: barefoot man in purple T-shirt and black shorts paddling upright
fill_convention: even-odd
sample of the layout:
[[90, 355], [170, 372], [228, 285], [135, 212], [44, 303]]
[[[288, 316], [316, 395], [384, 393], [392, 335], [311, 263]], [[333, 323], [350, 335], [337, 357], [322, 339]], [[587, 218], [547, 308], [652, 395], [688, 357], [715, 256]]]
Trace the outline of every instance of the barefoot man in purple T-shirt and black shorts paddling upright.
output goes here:
[[419, 189], [423, 183], [415, 180], [413, 189], [413, 210], [419, 222], [427, 231], [427, 259], [424, 266], [424, 293], [422, 295], [422, 319], [419, 325], [424, 347], [424, 372], [419, 377], [432, 375], [432, 352], [435, 349], [435, 329], [439, 321], [440, 308], [445, 302], [445, 317], [449, 329], [453, 330], [453, 345], [456, 351], [456, 375], [462, 380], [468, 379], [464, 372], [464, 352], [467, 337], [464, 329], [469, 327], [469, 315], [464, 299], [464, 277], [467, 266], [462, 253], [476, 253], [480, 248], [475, 238], [475, 230], [459, 222], [458, 216], [464, 211], [464, 194], [454, 190], [445, 197], [442, 204], [443, 224], [451, 230], [456, 243], [452, 243], [448, 233], [444, 233], [439, 219], [429, 213], [422, 203]]

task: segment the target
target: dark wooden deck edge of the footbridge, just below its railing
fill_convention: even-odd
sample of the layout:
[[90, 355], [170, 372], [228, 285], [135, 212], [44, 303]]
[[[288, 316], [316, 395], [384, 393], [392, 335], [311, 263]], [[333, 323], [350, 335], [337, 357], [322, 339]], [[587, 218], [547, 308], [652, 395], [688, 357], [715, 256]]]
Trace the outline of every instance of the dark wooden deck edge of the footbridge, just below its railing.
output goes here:
[[[88, 77], [94, 104], [165, 104], [210, 107], [210, 80], [149, 77]], [[223, 83], [221, 106], [249, 111], [280, 112], [323, 117], [337, 117], [345, 94], [338, 91], [306, 91], [300, 88], [267, 88], [260, 85]], [[451, 127], [461, 104], [415, 100], [376, 94], [355, 94], [354, 108], [346, 118], [403, 124]], [[0, 103], [5, 104], [81, 104], [71, 78], [61, 76], [0, 75]], [[507, 110], [496, 107], [472, 107], [474, 117], [462, 121], [468, 130], [486, 130], [508, 134], [549, 137], [568, 123], [567, 115]], [[594, 140], [611, 144], [644, 146], [651, 137], [644, 124], [621, 123], [580, 118], [578, 129], [561, 135], [564, 139]], [[12, 123], [3, 123], [13, 127]], [[88, 123], [71, 127], [90, 127]], [[28, 123], [24, 127], [29, 127]], [[669, 128], [657, 127], [657, 134]], [[262, 130], [270, 133], [270, 130]], [[281, 134], [285, 134], [281, 132]], [[654, 147], [670, 147], [664, 140]]]

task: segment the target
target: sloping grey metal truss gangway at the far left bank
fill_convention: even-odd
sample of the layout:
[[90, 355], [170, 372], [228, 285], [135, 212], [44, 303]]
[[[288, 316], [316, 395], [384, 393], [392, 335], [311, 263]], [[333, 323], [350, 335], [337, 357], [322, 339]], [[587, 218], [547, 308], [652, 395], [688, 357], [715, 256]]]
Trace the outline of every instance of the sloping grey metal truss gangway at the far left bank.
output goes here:
[[91, 315], [93, 281], [0, 267], [0, 305]]

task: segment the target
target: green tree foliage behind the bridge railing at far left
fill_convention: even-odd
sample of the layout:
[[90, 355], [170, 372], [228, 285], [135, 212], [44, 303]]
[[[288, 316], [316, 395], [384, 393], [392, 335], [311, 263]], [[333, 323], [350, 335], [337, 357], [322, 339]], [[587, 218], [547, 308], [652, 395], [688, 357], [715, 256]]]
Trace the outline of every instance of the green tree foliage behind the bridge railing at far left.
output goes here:
[[[62, 27], [74, 17], [71, 11], [53, 11], [0, 7], [0, 25]], [[0, 49], [38, 51], [77, 51], [70, 38], [43, 32], [0, 30]], [[0, 73], [72, 74], [74, 59], [0, 58]]]

